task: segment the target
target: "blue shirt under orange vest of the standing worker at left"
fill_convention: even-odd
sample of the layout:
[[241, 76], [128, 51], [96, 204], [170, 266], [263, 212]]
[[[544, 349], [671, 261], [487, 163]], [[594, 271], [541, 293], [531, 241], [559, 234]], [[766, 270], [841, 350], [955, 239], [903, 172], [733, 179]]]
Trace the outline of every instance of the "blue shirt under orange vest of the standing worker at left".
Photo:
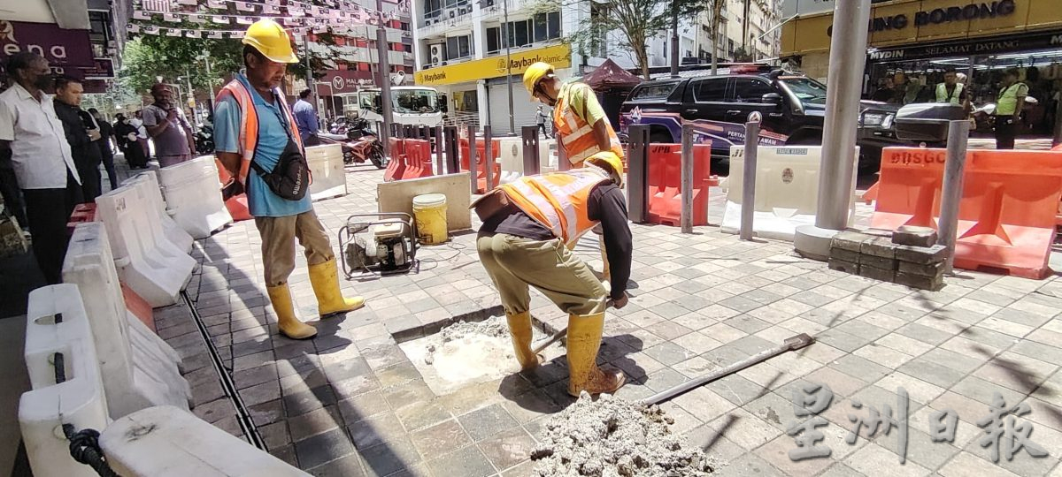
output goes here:
[[[255, 162], [263, 170], [272, 171], [280, 160], [280, 153], [288, 145], [288, 132], [280, 122], [284, 110], [276, 103], [267, 103], [258, 91], [251, 87], [247, 78], [237, 74], [236, 80], [251, 91], [255, 110], [258, 112], [258, 152]], [[275, 101], [284, 101], [277, 98]], [[215, 106], [213, 137], [220, 153], [240, 153], [240, 104], [232, 95]], [[296, 132], [297, 134], [297, 132]], [[256, 217], [286, 217], [309, 212], [313, 208], [310, 194], [299, 200], [288, 200], [269, 190], [266, 181], [254, 169], [247, 174], [247, 209]]]

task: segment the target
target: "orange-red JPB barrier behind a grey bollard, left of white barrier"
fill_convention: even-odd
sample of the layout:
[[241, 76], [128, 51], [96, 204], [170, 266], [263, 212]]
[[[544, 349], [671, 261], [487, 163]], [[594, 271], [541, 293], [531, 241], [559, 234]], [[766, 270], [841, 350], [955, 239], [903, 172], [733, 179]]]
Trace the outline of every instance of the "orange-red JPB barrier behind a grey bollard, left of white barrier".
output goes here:
[[[712, 144], [693, 145], [693, 225], [708, 225]], [[679, 226], [682, 215], [682, 144], [649, 147], [649, 212], [653, 224]]]

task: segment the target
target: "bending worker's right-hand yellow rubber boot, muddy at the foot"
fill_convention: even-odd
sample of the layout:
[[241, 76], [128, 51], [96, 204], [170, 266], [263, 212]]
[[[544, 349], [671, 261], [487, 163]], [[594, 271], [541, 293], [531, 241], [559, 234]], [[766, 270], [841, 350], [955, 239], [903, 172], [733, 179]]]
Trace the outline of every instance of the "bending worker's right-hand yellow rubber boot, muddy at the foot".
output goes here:
[[597, 367], [604, 314], [568, 317], [568, 394], [613, 393], [627, 383], [621, 371], [604, 372]]

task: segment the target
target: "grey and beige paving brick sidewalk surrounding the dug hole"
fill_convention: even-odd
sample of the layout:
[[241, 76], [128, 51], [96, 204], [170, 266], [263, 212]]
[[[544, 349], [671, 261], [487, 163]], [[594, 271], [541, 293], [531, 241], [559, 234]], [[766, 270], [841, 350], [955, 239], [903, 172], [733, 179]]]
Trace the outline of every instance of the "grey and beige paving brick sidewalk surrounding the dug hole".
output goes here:
[[[335, 234], [346, 215], [374, 211], [382, 172], [355, 167], [352, 194], [315, 204]], [[713, 211], [722, 194], [713, 191]], [[866, 216], [866, 209], [861, 209]], [[718, 215], [715, 215], [718, 217]], [[718, 224], [718, 219], [713, 223]], [[1062, 283], [962, 273], [937, 293], [830, 271], [781, 242], [742, 243], [715, 227], [682, 235], [669, 227], [633, 226], [636, 251], [631, 304], [611, 314], [601, 361], [634, 379], [619, 395], [645, 398], [770, 348], [796, 333], [818, 342], [697, 389], [666, 404], [675, 430], [727, 462], [721, 475], [1054, 475], [1062, 476]], [[436, 396], [392, 333], [412, 336], [453, 316], [497, 305], [476, 261], [474, 234], [424, 248], [418, 273], [344, 282], [369, 306], [292, 341], [276, 334], [252, 223], [196, 243], [201, 265], [188, 290], [270, 452], [314, 475], [529, 475], [527, 460], [547, 414], [568, 405], [564, 358], [536, 373], [512, 375]], [[596, 247], [577, 253], [597, 262]], [[299, 262], [304, 259], [299, 255]], [[305, 263], [291, 277], [303, 316], [315, 313]], [[533, 314], [561, 326], [565, 318], [535, 295]], [[194, 412], [235, 435], [206, 346], [183, 306], [156, 311], [159, 334], [186, 356]], [[423, 331], [423, 330], [422, 330]], [[805, 383], [835, 398], [820, 427], [826, 459], [792, 462], [786, 435], [796, 422], [790, 400]], [[907, 463], [896, 435], [844, 442], [847, 414], [868, 406], [896, 408], [910, 395]], [[1020, 419], [1049, 456], [1024, 450], [988, 460], [976, 421], [993, 392], [1008, 406], [1028, 403]], [[860, 410], [852, 401], [863, 404]], [[960, 422], [953, 443], [931, 442], [929, 414], [946, 408]]]

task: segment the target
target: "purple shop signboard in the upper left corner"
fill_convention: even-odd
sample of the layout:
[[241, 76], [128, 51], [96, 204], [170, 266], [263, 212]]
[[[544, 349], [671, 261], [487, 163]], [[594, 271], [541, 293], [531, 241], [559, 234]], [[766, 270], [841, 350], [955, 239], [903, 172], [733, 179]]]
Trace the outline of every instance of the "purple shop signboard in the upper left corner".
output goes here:
[[74, 68], [95, 68], [88, 30], [65, 30], [55, 23], [0, 20], [0, 61], [19, 52], [44, 56], [52, 70], [70, 74]]

